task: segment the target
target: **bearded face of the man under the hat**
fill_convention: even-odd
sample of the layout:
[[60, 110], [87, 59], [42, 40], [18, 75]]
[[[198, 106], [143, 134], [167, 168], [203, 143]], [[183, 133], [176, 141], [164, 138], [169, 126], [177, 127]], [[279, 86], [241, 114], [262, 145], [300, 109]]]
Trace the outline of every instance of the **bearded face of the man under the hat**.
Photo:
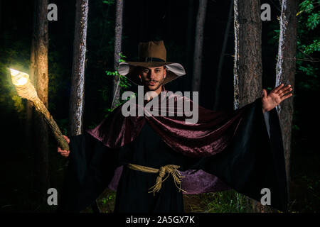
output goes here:
[[142, 84], [149, 91], [158, 90], [162, 84], [164, 84], [164, 78], [166, 78], [166, 70], [161, 67], [148, 67], [141, 68], [140, 71]]

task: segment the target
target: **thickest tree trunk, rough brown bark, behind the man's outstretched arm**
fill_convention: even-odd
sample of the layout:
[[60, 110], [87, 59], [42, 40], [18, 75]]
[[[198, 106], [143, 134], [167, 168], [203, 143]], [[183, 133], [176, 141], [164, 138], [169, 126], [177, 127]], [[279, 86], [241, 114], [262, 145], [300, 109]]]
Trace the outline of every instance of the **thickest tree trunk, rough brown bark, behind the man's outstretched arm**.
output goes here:
[[[260, 0], [234, 2], [234, 109], [262, 96], [262, 23]], [[262, 106], [261, 106], [262, 108]], [[269, 206], [247, 198], [254, 212], [272, 212]]]

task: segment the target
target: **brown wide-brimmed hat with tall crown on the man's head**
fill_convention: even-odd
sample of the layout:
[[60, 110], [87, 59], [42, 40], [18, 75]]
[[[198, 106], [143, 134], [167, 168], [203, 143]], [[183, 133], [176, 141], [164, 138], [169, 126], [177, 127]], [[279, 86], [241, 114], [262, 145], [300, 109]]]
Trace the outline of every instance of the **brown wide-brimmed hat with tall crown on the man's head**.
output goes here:
[[120, 62], [118, 72], [127, 77], [134, 84], [139, 85], [138, 67], [159, 66], [166, 66], [164, 84], [186, 74], [186, 71], [181, 64], [166, 62], [166, 48], [163, 40], [139, 43], [139, 62]]

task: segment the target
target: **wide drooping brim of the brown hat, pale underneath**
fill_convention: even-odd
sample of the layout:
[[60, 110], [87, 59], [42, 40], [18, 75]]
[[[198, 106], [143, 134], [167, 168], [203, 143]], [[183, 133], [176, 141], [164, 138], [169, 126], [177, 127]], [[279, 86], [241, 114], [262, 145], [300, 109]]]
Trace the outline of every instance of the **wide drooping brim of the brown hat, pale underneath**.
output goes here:
[[118, 73], [127, 77], [136, 85], [141, 85], [137, 75], [137, 67], [160, 67], [166, 66], [166, 78], [164, 84], [186, 74], [183, 66], [174, 62], [120, 62], [118, 66]]

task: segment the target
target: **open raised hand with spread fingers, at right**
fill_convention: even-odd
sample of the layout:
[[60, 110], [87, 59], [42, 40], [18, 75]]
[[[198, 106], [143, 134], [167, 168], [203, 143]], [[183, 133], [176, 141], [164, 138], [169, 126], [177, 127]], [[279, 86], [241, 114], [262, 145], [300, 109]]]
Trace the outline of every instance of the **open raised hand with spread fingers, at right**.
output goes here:
[[292, 96], [291, 85], [288, 84], [284, 87], [284, 84], [280, 84], [278, 87], [275, 87], [269, 94], [267, 91], [263, 89], [263, 96], [262, 96], [262, 111], [271, 111], [279, 105], [284, 99], [288, 99]]

